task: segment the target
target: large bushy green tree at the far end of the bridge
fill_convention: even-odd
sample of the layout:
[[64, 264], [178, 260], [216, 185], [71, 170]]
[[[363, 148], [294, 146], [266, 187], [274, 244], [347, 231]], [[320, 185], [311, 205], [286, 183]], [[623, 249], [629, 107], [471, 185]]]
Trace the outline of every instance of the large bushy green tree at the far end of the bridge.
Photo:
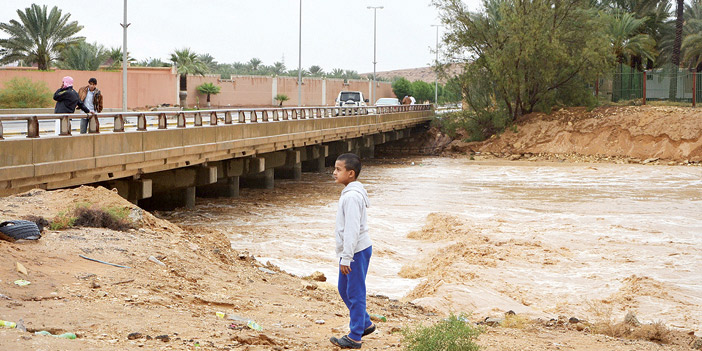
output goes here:
[[449, 59], [464, 63], [466, 102], [495, 127], [585, 103], [587, 82], [609, 68], [605, 26], [588, 0], [484, 0], [477, 13], [462, 0], [433, 3]]

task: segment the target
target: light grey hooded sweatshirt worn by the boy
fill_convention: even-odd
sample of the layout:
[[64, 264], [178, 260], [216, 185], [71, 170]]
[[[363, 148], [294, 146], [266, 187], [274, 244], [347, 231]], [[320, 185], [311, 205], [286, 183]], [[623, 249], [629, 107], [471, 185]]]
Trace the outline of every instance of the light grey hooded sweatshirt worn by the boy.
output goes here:
[[368, 193], [361, 182], [353, 181], [341, 192], [335, 230], [336, 255], [341, 258], [340, 265], [348, 266], [356, 252], [372, 245], [368, 235], [368, 207]]

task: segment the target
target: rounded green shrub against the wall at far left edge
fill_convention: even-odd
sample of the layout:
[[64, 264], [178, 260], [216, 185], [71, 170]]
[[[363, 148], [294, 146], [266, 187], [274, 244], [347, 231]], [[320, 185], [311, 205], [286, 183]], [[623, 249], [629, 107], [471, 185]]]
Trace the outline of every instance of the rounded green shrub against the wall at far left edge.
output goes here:
[[0, 90], [0, 108], [51, 107], [52, 94], [44, 82], [33, 82], [29, 78], [15, 77]]

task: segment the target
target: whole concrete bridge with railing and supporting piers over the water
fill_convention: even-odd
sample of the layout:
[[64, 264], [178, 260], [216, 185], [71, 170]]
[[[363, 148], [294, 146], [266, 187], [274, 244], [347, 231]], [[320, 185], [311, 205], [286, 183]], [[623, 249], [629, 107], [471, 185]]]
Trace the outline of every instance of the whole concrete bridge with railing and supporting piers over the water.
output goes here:
[[[83, 135], [71, 135], [82, 114], [0, 115], [0, 196], [93, 184], [147, 208], [192, 207], [322, 172], [345, 152], [371, 158], [433, 115], [430, 105], [101, 113]], [[40, 135], [43, 120], [59, 120], [59, 135]], [[8, 121], [26, 121], [26, 138], [3, 139]]]

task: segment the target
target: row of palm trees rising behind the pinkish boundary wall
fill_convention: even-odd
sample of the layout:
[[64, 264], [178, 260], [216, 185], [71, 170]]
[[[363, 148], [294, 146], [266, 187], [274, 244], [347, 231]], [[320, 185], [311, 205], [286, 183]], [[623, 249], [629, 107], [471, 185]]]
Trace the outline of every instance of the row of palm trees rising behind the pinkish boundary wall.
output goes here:
[[[89, 43], [78, 33], [83, 26], [71, 21], [70, 13], [63, 13], [54, 6], [32, 4], [24, 10], [18, 9], [19, 20], [0, 23], [0, 30], [9, 38], [0, 39], [0, 63], [18, 63], [20, 66], [36, 65], [40, 70], [52, 67], [60, 69], [95, 71], [119, 69], [122, 66], [122, 49], [106, 48], [99, 43]], [[288, 69], [283, 62], [265, 65], [258, 58], [247, 62], [220, 63], [208, 53], [198, 54], [189, 48], [176, 49], [167, 61], [160, 58], [136, 60], [128, 53], [130, 66], [169, 67], [176, 66], [179, 73], [218, 74], [223, 79], [232, 75], [298, 76], [297, 69]], [[354, 70], [335, 68], [324, 71], [318, 65], [302, 69], [304, 77], [328, 77], [340, 79], [371, 79]], [[378, 79], [380, 80], [380, 79]]]

